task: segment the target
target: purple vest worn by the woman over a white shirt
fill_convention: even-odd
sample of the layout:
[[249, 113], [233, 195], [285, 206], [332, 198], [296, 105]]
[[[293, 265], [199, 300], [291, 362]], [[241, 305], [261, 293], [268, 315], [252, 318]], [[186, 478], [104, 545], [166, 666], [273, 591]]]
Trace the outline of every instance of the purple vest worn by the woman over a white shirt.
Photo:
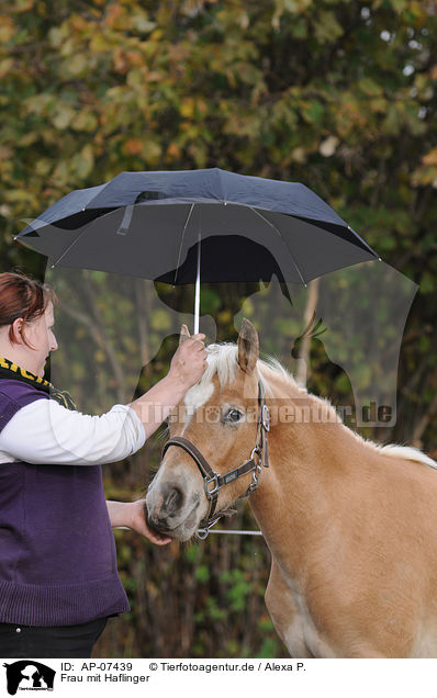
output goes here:
[[[0, 431], [49, 396], [0, 381]], [[0, 463], [0, 622], [74, 626], [130, 610], [100, 465]]]

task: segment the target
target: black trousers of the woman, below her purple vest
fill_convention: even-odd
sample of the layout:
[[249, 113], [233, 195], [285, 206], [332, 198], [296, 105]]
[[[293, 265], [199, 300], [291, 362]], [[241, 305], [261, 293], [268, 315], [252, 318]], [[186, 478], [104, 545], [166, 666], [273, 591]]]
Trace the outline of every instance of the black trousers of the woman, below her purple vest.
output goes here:
[[0, 623], [0, 657], [90, 657], [105, 624], [105, 618], [59, 628]]

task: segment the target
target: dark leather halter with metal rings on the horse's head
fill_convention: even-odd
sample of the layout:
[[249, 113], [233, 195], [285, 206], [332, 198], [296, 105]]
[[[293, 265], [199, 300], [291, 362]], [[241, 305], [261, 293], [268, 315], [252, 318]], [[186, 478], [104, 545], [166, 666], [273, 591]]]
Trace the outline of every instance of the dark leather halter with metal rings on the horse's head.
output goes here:
[[250, 453], [249, 460], [238, 465], [234, 470], [231, 470], [228, 473], [224, 475], [220, 475], [216, 473], [206, 459], [202, 455], [199, 449], [192, 443], [189, 439], [184, 437], [176, 436], [172, 439], [169, 439], [164, 449], [163, 449], [163, 459], [170, 448], [170, 446], [177, 446], [186, 451], [193, 459], [194, 463], [198, 465], [201, 474], [203, 475], [203, 487], [205, 491], [206, 498], [210, 502], [210, 510], [208, 516], [202, 519], [200, 522], [200, 528], [202, 532], [198, 531], [198, 538], [204, 539], [208, 536], [210, 528], [212, 528], [222, 516], [225, 516], [228, 510], [216, 511], [218, 493], [224, 485], [228, 485], [231, 482], [234, 482], [242, 475], [246, 475], [247, 473], [253, 473], [253, 480], [250, 485], [247, 487], [246, 492], [240, 495], [239, 498], [248, 497], [254, 489], [258, 486], [258, 479], [261, 472], [262, 465], [265, 468], [269, 466], [269, 444], [267, 439], [267, 434], [270, 430], [270, 413], [269, 408], [266, 405], [266, 396], [264, 392], [264, 387], [261, 382], [258, 382], [258, 420], [257, 420], [257, 440], [255, 447]]

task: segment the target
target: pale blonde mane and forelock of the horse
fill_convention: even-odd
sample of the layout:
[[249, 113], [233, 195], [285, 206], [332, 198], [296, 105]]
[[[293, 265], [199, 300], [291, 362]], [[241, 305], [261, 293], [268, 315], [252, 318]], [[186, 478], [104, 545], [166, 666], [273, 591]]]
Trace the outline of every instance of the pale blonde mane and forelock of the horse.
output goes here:
[[[218, 376], [220, 386], [231, 384], [235, 378], [238, 365], [238, 348], [237, 345], [231, 342], [210, 345], [206, 348], [208, 351], [208, 368], [200, 382], [200, 390], [203, 390], [211, 385], [213, 376]], [[309, 393], [305, 387], [300, 386], [294, 376], [283, 368], [283, 365], [273, 357], [266, 357], [265, 360], [258, 359], [257, 362], [258, 379], [262, 382], [266, 394], [273, 396], [272, 381], [274, 378], [281, 378], [289, 386], [291, 393], [294, 396], [309, 397], [312, 401], [320, 403], [324, 409], [324, 414], [327, 416], [329, 423], [340, 423], [344, 429], [347, 429], [356, 439], [362, 444], [371, 448], [382, 455], [391, 458], [403, 458], [408, 461], [416, 461], [437, 469], [437, 462], [430, 459], [428, 455], [419, 451], [414, 447], [402, 446], [396, 443], [376, 443], [370, 439], [365, 439], [356, 431], [352, 431], [340, 419], [337, 410], [332, 403], [323, 397], [318, 397], [312, 393]]]

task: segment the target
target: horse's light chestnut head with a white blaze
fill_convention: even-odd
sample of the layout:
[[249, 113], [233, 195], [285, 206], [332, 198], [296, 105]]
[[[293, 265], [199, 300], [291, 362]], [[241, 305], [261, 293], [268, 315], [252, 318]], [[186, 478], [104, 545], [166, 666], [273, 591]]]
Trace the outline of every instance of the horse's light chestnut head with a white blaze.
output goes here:
[[[181, 334], [183, 341], [183, 334]], [[208, 369], [190, 389], [184, 401], [170, 416], [170, 443], [152, 482], [146, 506], [149, 522], [159, 531], [181, 541], [189, 540], [209, 516], [216, 482], [205, 486], [206, 476], [195, 458], [182, 446], [191, 443], [206, 464], [220, 476], [250, 461], [260, 434], [258, 397], [258, 335], [243, 320], [237, 345], [211, 345]], [[253, 454], [254, 455], [254, 454]], [[257, 463], [258, 453], [251, 462]], [[244, 495], [254, 479], [254, 470], [220, 487], [215, 510], [228, 508]], [[204, 473], [204, 471], [203, 471]], [[220, 480], [222, 483], [222, 479]]]

